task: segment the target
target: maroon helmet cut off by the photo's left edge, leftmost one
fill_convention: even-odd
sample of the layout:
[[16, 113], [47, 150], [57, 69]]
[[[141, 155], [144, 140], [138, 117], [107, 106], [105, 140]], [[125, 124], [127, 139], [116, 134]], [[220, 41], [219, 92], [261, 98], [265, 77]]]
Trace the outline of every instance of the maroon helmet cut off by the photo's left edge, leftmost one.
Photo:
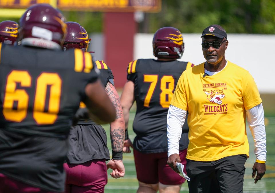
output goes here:
[[14, 44], [18, 34], [18, 24], [14, 21], [3, 21], [0, 23], [0, 43]]

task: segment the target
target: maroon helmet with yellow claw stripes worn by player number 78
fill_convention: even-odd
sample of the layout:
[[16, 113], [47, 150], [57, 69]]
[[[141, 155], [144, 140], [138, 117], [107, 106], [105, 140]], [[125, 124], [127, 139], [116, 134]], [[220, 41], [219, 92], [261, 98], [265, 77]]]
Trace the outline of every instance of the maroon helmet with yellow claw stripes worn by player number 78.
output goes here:
[[156, 31], [153, 52], [157, 58], [180, 59], [184, 51], [182, 34], [176, 28], [164, 27]]

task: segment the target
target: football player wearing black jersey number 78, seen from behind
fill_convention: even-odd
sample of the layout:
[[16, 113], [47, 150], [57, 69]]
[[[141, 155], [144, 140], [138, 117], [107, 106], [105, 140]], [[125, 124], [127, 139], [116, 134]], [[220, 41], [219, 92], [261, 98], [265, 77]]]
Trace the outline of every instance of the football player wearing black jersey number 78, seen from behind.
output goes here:
[[[153, 52], [158, 59], [138, 59], [128, 65], [128, 81], [123, 88], [121, 105], [127, 128], [129, 110], [134, 101], [137, 104], [133, 122], [137, 135], [133, 142], [139, 181], [137, 192], [179, 192], [185, 181], [166, 163], [166, 117], [170, 100], [182, 72], [193, 66], [190, 62], [177, 60], [183, 51], [180, 31], [172, 27], [160, 28], [153, 38]], [[127, 134], [125, 136], [124, 152], [128, 153], [132, 143]], [[188, 126], [185, 124], [179, 142], [180, 159], [184, 165], [188, 142]]]

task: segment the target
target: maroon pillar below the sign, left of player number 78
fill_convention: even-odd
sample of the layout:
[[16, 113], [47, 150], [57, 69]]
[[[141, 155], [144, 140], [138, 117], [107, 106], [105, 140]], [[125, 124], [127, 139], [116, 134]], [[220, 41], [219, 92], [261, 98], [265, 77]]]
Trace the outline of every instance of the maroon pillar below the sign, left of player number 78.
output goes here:
[[104, 13], [105, 63], [112, 69], [115, 87], [126, 82], [127, 65], [133, 60], [133, 38], [136, 33], [134, 13]]

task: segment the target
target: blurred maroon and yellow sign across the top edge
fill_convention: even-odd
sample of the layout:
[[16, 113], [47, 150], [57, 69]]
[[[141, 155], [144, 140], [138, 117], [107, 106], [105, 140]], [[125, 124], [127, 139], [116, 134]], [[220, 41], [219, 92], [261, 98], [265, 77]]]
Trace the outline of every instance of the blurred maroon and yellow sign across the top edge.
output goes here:
[[[0, 7], [27, 8], [36, 3], [52, 4], [52, 0], [0, 0]], [[71, 11], [159, 12], [161, 0], [57, 0], [56, 5]]]

